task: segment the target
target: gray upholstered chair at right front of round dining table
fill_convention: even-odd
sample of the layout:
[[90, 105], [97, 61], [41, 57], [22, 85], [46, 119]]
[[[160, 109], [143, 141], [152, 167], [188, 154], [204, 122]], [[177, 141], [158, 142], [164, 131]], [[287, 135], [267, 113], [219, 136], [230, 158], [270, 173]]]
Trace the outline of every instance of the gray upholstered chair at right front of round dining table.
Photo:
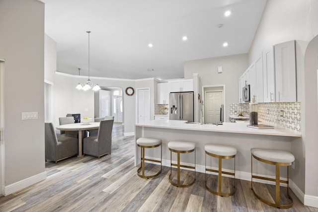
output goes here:
[[111, 132], [113, 130], [113, 119], [102, 120], [99, 124], [97, 136], [84, 138], [83, 153], [99, 157], [111, 153]]

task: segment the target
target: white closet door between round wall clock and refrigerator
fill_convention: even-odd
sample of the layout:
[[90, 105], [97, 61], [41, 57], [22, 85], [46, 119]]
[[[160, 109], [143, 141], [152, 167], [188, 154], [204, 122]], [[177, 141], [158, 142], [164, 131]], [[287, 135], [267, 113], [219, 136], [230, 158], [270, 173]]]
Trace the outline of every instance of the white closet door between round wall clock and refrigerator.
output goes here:
[[150, 121], [150, 89], [138, 89], [138, 123]]

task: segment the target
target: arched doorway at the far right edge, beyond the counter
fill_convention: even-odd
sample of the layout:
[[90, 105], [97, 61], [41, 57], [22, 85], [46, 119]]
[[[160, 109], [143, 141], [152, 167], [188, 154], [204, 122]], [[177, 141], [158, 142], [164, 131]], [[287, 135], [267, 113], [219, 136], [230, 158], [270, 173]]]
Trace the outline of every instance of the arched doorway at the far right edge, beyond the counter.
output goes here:
[[[305, 194], [317, 196], [318, 189], [318, 35], [307, 46], [305, 66]], [[305, 198], [305, 205], [308, 205]], [[314, 206], [315, 207], [315, 206]], [[317, 207], [317, 206], [316, 206]]]

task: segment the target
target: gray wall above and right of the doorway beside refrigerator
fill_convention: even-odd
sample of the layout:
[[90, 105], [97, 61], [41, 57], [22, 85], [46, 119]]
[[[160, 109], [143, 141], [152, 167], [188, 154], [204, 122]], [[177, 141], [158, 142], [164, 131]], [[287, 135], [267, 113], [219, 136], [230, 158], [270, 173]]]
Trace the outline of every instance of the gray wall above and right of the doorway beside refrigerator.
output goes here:
[[[219, 66], [223, 68], [222, 73], [218, 73]], [[184, 78], [193, 78], [193, 73], [198, 73], [202, 86], [224, 84], [227, 114], [224, 121], [228, 122], [230, 103], [239, 101], [239, 76], [247, 67], [247, 54], [186, 61], [184, 63]]]

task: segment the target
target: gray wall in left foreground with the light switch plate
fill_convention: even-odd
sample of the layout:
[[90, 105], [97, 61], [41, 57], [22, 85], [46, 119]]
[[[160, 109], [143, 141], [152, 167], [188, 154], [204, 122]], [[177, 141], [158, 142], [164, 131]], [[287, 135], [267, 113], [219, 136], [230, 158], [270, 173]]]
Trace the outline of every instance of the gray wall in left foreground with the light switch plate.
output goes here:
[[[44, 3], [37, 0], [1, 0], [0, 26], [0, 58], [6, 61], [4, 186], [7, 187], [36, 175], [46, 177]], [[22, 121], [21, 112], [38, 112], [38, 119]], [[28, 184], [24, 183], [24, 186]]]

